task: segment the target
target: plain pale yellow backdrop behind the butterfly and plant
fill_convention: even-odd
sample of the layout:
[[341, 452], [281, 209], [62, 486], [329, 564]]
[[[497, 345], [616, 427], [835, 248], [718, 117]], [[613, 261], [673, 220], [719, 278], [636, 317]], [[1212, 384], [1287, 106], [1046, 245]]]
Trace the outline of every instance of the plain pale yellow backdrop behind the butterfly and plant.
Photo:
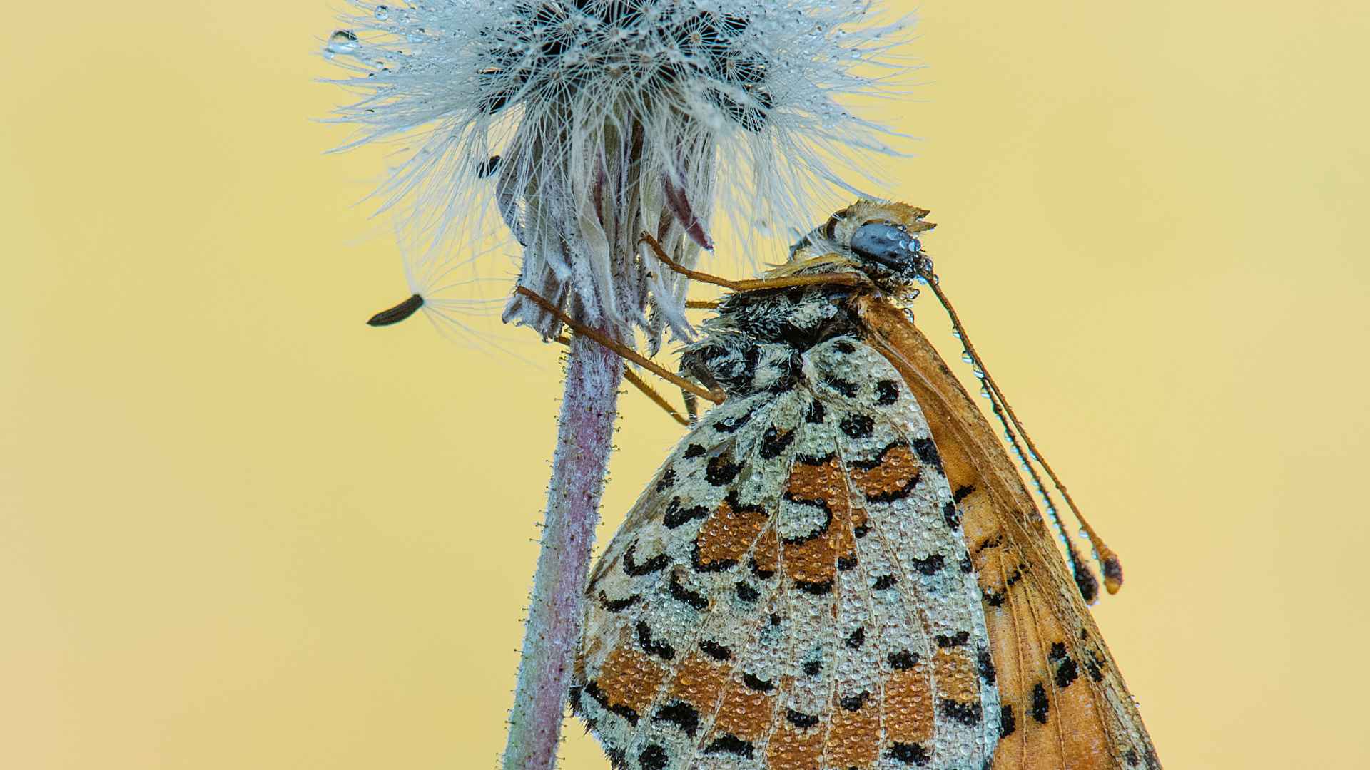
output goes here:
[[[381, 153], [311, 122], [337, 5], [5, 7], [0, 766], [503, 745], [556, 353], [362, 323], [407, 292], [355, 206]], [[919, 11], [891, 192], [1123, 555], [1096, 617], [1162, 759], [1370, 765], [1370, 12]], [[623, 412], [601, 537], [680, 434]]]

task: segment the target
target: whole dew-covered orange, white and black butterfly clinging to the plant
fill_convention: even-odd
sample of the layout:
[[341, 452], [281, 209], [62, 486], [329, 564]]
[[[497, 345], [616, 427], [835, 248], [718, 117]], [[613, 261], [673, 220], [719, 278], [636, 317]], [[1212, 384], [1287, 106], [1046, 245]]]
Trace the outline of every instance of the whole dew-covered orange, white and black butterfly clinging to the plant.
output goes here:
[[834, 214], [726, 282], [682, 352], [722, 403], [595, 566], [574, 660], [571, 710], [615, 769], [1160, 766], [1086, 608], [1097, 582], [912, 322], [919, 282], [944, 299], [926, 215]]

